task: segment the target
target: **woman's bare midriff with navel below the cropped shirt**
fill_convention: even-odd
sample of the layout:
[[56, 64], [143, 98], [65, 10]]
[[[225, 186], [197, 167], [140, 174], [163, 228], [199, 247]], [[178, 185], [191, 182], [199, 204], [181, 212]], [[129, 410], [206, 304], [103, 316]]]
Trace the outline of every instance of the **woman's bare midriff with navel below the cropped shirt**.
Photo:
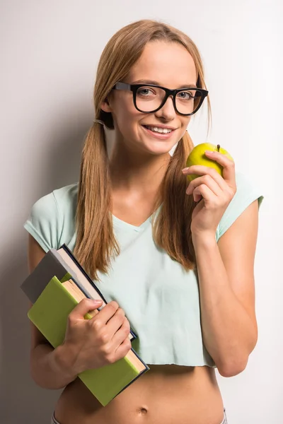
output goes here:
[[150, 365], [102, 406], [79, 378], [55, 408], [60, 424], [220, 424], [224, 404], [212, 367]]

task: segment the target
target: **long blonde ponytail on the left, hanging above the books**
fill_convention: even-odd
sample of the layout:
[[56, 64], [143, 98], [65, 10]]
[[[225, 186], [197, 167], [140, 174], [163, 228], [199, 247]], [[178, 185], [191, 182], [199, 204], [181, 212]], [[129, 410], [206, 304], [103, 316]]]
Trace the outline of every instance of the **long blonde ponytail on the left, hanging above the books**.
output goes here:
[[81, 158], [74, 256], [91, 276], [108, 271], [120, 249], [112, 228], [109, 159], [103, 125], [93, 122]]

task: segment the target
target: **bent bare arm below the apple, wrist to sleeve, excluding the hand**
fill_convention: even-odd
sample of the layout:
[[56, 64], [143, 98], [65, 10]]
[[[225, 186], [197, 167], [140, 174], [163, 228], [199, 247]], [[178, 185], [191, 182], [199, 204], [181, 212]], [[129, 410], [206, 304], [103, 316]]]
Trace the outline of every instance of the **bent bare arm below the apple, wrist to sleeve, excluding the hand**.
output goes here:
[[220, 237], [192, 240], [200, 280], [202, 336], [219, 373], [242, 372], [255, 348], [254, 258], [258, 235], [258, 200]]

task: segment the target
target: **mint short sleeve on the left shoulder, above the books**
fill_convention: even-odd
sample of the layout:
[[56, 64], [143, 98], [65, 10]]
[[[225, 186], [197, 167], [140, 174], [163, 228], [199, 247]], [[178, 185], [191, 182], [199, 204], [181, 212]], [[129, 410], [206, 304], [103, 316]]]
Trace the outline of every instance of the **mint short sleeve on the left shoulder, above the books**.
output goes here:
[[60, 214], [54, 192], [35, 202], [23, 227], [40, 244], [45, 252], [59, 249]]

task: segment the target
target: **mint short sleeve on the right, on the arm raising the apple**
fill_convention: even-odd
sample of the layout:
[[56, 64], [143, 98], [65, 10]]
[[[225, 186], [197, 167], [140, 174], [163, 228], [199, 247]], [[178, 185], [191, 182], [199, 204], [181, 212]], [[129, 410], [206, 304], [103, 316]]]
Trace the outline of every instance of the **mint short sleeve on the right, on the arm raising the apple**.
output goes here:
[[241, 215], [243, 211], [256, 199], [258, 199], [258, 208], [262, 204], [264, 195], [258, 184], [250, 179], [243, 172], [236, 172], [237, 191], [230, 204], [226, 208], [216, 230], [216, 241], [228, 230], [233, 222]]

